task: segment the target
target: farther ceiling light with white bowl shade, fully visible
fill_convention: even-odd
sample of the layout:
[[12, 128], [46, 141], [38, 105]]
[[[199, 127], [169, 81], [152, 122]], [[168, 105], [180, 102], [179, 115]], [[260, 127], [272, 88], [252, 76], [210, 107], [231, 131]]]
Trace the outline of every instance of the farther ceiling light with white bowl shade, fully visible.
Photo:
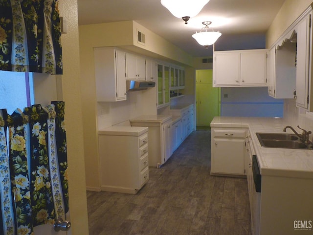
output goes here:
[[[210, 21], [204, 21], [202, 22], [205, 26], [201, 28], [201, 31], [199, 33], [195, 33], [192, 35], [194, 39], [197, 40], [197, 42], [204, 46], [205, 49], [209, 47], [210, 45], [214, 44], [216, 40], [222, 35], [220, 32], [214, 32], [213, 29], [212, 31], [207, 31], [210, 27], [208, 25], [212, 24]], [[205, 32], [202, 32], [202, 29], [205, 29]]]

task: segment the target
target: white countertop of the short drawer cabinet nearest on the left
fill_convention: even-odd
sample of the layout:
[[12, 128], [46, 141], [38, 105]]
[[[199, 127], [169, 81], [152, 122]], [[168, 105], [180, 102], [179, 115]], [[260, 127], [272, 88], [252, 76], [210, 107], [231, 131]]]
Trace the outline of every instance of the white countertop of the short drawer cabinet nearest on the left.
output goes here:
[[148, 132], [148, 127], [141, 126], [110, 126], [102, 130], [98, 130], [98, 135], [113, 136], [141, 136]]

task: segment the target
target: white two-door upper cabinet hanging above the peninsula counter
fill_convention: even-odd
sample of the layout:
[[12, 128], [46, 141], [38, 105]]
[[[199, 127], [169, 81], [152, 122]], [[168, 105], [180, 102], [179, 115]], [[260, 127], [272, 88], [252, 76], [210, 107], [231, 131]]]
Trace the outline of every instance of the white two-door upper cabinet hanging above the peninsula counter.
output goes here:
[[233, 50], [213, 53], [213, 86], [266, 86], [267, 50]]

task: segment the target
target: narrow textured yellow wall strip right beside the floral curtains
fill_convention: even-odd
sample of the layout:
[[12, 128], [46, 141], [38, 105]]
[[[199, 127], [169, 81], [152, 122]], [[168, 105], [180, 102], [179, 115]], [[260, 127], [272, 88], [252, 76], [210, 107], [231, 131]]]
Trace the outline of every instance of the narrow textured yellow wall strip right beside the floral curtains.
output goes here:
[[77, 0], [59, 0], [59, 9], [60, 15], [67, 20], [67, 34], [63, 34], [61, 40], [62, 96], [66, 105], [69, 210], [72, 224], [69, 234], [88, 235]]

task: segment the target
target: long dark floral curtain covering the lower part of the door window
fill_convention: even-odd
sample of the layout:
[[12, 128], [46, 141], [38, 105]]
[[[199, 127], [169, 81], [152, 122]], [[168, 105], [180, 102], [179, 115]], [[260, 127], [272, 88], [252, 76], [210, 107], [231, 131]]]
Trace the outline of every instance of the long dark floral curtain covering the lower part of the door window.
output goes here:
[[33, 235], [37, 225], [66, 219], [64, 102], [0, 110], [0, 183], [0, 234]]

